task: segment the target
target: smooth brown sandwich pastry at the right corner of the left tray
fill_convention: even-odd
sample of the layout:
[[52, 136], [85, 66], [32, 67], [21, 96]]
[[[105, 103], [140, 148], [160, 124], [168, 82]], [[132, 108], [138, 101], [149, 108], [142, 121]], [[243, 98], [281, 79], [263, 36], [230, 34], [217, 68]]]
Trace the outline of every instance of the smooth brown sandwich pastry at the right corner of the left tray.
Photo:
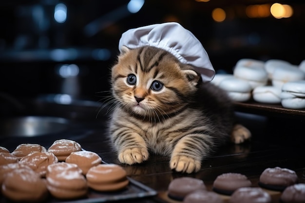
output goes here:
[[86, 174], [89, 187], [97, 191], [117, 191], [129, 184], [124, 168], [115, 164], [91, 167]]

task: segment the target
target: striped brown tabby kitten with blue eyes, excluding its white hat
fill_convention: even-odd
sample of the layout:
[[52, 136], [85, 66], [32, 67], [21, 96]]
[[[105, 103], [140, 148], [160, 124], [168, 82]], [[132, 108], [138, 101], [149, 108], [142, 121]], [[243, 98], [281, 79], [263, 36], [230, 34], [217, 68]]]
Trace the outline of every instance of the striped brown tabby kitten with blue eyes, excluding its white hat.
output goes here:
[[152, 151], [169, 156], [172, 169], [192, 173], [230, 135], [235, 143], [251, 135], [234, 126], [226, 92], [163, 49], [124, 47], [111, 82], [116, 106], [109, 134], [121, 163], [142, 163]]

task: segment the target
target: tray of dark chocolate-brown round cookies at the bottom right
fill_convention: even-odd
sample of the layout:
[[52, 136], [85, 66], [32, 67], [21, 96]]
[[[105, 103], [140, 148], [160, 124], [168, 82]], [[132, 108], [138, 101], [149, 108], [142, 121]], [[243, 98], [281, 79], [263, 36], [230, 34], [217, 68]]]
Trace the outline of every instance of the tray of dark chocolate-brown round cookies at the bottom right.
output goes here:
[[193, 177], [172, 180], [157, 198], [166, 203], [303, 203], [305, 168], [266, 168], [258, 177], [220, 174], [211, 184]]

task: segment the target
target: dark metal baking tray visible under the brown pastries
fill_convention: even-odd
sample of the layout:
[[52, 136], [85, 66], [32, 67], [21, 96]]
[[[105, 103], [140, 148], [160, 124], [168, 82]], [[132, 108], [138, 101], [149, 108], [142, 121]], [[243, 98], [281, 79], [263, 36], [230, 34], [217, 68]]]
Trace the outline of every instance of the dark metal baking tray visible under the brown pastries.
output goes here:
[[[126, 189], [116, 192], [98, 192], [89, 189], [86, 198], [82, 199], [71, 199], [71, 200], [60, 200], [52, 197], [44, 201], [43, 203], [104, 203], [104, 202], [118, 202], [123, 200], [140, 199], [145, 197], [152, 197], [157, 195], [157, 192], [152, 188], [143, 185], [132, 178], [129, 178], [129, 185]], [[0, 203], [12, 203], [0, 194]]]

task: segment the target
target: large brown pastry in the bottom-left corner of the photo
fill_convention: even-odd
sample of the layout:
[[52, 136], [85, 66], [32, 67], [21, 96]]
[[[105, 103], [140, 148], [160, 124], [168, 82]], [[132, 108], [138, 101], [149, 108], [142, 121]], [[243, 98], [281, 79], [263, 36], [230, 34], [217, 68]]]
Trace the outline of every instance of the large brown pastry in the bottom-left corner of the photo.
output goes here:
[[14, 202], [42, 202], [48, 197], [45, 180], [30, 168], [8, 172], [2, 183], [2, 194]]

